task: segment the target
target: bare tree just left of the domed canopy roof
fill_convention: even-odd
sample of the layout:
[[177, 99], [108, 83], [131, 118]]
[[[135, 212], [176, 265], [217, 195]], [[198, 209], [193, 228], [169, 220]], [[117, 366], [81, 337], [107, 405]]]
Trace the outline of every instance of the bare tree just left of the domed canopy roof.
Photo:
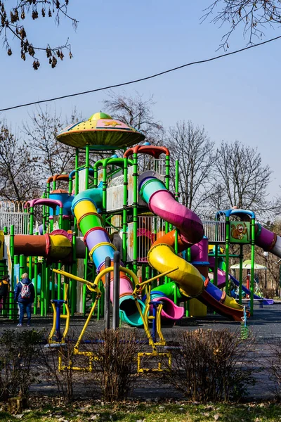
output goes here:
[[68, 124], [81, 120], [77, 110], [69, 120], [63, 120], [56, 113], [52, 115], [48, 107], [38, 107], [30, 118], [31, 123], [25, 123], [22, 130], [27, 136], [25, 145], [32, 146], [33, 154], [40, 157], [37, 169], [40, 168], [41, 178], [73, 170], [75, 148], [57, 141], [56, 136]]

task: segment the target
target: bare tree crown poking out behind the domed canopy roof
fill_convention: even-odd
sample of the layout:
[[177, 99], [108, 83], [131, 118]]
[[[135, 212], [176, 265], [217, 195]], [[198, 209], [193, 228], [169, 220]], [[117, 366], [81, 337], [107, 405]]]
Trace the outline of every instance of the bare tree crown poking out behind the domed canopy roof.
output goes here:
[[109, 98], [103, 101], [108, 111], [122, 122], [129, 124], [135, 129], [145, 134], [146, 141], [153, 145], [157, 145], [163, 136], [163, 127], [160, 122], [155, 121], [152, 107], [155, 106], [153, 96], [147, 100], [136, 92], [136, 96], [126, 96], [126, 94], [115, 94], [110, 91]]

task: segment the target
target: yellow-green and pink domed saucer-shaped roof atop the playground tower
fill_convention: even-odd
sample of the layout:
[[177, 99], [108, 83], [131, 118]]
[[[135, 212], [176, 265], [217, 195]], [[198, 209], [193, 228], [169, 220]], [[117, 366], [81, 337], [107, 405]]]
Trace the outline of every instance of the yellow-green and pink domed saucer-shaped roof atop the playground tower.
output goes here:
[[75, 148], [90, 146], [104, 151], [123, 148], [143, 141], [145, 135], [105, 113], [95, 113], [89, 120], [71, 124], [57, 136], [58, 141]]

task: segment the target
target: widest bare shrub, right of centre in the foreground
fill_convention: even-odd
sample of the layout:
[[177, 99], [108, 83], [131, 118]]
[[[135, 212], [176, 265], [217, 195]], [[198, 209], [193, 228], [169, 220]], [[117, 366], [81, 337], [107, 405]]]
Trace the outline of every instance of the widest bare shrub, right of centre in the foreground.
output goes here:
[[163, 378], [192, 401], [239, 399], [255, 382], [246, 365], [254, 338], [242, 340], [228, 329], [200, 329], [178, 333], [173, 343], [172, 366], [163, 362]]

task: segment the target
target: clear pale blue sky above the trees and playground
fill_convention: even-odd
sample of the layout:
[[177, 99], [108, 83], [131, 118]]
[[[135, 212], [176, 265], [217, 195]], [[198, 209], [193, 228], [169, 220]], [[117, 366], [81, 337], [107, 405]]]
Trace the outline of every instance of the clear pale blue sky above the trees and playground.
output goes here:
[[[8, 57], [0, 50], [0, 108], [42, 100], [110, 84], [126, 82], [223, 53], [216, 51], [227, 27], [200, 24], [202, 10], [211, 0], [70, 0], [69, 14], [79, 20], [77, 32], [62, 19], [37, 20], [29, 30], [37, 45], [63, 44], [67, 37], [74, 58], [65, 58], [52, 70], [41, 59], [32, 69], [31, 60], [20, 60], [14, 51]], [[280, 30], [266, 30], [263, 40], [277, 37]], [[230, 39], [230, 50], [247, 45], [242, 28]], [[157, 101], [157, 120], [169, 127], [178, 120], [204, 125], [212, 140], [241, 141], [258, 147], [263, 164], [274, 171], [270, 195], [280, 193], [280, 47], [281, 40], [222, 58], [194, 65], [124, 89]], [[13, 48], [13, 44], [12, 44]], [[15, 50], [15, 48], [13, 48]], [[76, 107], [84, 117], [99, 111], [106, 91], [48, 103], [64, 116]], [[34, 106], [1, 115], [15, 127], [28, 119]], [[104, 110], [106, 112], [106, 110]], [[245, 157], [247, 165], [247, 157]]]

